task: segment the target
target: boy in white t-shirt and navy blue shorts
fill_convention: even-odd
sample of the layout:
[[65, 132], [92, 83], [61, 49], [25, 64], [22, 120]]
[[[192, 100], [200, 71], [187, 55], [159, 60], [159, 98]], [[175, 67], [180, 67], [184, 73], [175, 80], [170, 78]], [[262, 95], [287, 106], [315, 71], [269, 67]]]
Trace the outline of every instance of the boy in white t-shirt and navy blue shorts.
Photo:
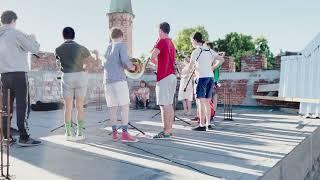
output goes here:
[[[191, 42], [195, 50], [191, 54], [189, 70], [195, 66], [195, 75], [198, 79], [196, 98], [200, 101], [200, 123], [195, 131], [206, 131], [210, 121], [210, 100], [213, 96], [214, 74], [213, 69], [221, 65], [223, 57], [212, 49], [203, 46], [202, 34], [195, 32], [191, 36]], [[207, 120], [207, 121], [206, 121]]]

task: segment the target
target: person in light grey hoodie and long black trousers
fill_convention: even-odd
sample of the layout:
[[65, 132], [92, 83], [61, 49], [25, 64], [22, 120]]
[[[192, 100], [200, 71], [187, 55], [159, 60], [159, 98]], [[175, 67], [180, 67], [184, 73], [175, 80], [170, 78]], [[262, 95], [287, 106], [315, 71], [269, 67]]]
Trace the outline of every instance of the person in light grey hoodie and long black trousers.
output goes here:
[[[20, 133], [18, 144], [21, 146], [34, 146], [41, 141], [30, 138], [27, 132], [27, 118], [29, 116], [29, 83], [28, 52], [37, 54], [40, 45], [34, 35], [26, 35], [17, 30], [17, 15], [13, 11], [5, 11], [1, 15], [3, 26], [0, 27], [0, 73], [3, 93], [4, 111], [10, 106], [13, 112], [13, 102], [16, 99], [17, 126]], [[10, 104], [7, 104], [8, 90], [10, 90]], [[6, 127], [7, 117], [3, 117], [2, 127]], [[6, 136], [4, 129], [4, 136]], [[12, 142], [15, 140], [10, 138]]]

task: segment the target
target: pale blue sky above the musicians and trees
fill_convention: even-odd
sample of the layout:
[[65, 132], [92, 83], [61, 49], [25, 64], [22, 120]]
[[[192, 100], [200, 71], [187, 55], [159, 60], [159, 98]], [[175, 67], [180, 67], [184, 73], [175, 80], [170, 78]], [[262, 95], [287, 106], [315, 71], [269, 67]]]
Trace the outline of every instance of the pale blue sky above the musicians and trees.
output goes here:
[[[110, 0], [1, 0], [0, 12], [18, 13], [18, 28], [36, 34], [41, 50], [62, 43], [61, 30], [72, 26], [77, 41], [104, 51], [108, 39]], [[179, 30], [204, 25], [210, 40], [229, 32], [265, 36], [273, 52], [302, 50], [320, 32], [319, 0], [132, 0], [135, 14], [133, 54], [148, 53], [157, 25], [167, 21], [174, 38]]]

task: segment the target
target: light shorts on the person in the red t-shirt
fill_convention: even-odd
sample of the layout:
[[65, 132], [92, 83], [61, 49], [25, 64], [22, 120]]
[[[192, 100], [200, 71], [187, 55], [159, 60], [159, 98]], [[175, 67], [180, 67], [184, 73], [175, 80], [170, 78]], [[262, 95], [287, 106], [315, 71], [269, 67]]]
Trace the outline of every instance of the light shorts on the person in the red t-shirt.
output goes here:
[[166, 106], [173, 104], [176, 93], [177, 77], [171, 74], [156, 83], [157, 105]]

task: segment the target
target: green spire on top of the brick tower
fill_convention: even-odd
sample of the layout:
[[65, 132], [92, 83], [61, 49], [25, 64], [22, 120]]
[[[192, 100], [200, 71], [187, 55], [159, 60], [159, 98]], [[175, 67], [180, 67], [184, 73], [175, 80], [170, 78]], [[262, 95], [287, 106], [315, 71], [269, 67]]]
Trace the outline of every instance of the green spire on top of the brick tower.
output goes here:
[[129, 13], [134, 15], [131, 0], [111, 0], [108, 14], [111, 13]]

